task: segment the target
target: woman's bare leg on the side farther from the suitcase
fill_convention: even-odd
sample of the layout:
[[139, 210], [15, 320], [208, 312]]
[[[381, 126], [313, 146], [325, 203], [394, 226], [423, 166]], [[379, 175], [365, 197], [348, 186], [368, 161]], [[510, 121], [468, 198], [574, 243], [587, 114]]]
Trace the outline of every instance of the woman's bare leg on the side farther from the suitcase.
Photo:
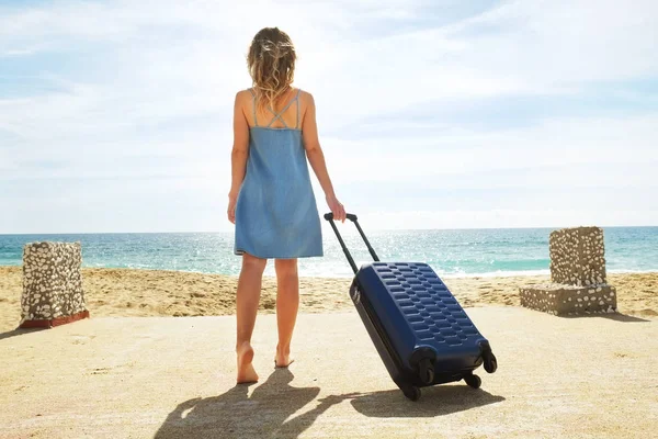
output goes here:
[[236, 294], [238, 383], [258, 381], [258, 374], [251, 364], [253, 360], [251, 334], [256, 325], [263, 271], [266, 263], [266, 259], [260, 259], [251, 255], [242, 256], [242, 269], [240, 270]]

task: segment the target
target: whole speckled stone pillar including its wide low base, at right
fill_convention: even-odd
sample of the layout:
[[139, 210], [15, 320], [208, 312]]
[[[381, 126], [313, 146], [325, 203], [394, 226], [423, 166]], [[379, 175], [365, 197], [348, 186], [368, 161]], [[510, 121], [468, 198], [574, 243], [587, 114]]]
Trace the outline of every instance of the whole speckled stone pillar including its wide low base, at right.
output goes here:
[[554, 230], [549, 254], [551, 283], [521, 286], [522, 306], [554, 315], [616, 312], [616, 290], [605, 283], [601, 228]]

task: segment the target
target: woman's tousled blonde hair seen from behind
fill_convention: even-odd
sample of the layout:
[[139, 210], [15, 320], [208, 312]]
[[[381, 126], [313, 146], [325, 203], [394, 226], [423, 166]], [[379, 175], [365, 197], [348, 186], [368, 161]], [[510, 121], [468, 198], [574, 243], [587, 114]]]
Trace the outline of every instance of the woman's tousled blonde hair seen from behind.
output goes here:
[[249, 47], [247, 66], [261, 110], [265, 110], [269, 103], [276, 111], [277, 100], [294, 80], [296, 59], [291, 37], [279, 27], [264, 27], [256, 34]]

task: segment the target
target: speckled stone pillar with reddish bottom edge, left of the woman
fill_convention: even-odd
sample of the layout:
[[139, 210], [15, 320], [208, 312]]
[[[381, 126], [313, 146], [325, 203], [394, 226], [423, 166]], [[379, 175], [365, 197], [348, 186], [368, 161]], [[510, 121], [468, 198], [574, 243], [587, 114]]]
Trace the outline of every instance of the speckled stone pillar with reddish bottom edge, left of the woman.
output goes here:
[[89, 317], [80, 243], [31, 243], [23, 248], [20, 327], [52, 327]]

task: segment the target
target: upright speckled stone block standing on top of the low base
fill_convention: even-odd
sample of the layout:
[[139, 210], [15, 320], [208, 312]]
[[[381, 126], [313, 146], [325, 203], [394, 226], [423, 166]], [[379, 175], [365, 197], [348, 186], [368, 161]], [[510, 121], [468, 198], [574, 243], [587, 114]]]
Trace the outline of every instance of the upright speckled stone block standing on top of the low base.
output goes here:
[[552, 232], [548, 249], [551, 282], [578, 286], [605, 283], [601, 228], [575, 227]]

